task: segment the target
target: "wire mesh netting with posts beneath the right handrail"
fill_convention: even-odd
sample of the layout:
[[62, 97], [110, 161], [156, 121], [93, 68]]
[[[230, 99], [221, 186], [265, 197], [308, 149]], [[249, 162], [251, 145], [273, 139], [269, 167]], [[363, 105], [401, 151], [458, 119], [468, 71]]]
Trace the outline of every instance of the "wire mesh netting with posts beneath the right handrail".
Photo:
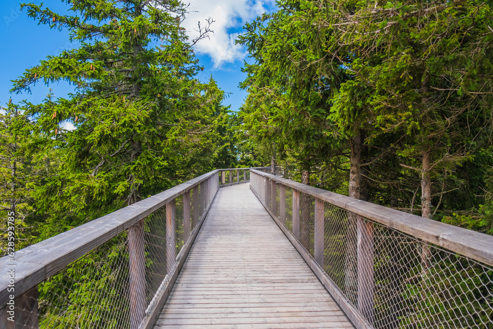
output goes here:
[[[250, 184], [274, 211], [269, 179], [252, 174]], [[277, 217], [374, 328], [493, 328], [491, 266], [312, 195], [280, 193], [279, 183], [277, 190], [285, 195]]]

